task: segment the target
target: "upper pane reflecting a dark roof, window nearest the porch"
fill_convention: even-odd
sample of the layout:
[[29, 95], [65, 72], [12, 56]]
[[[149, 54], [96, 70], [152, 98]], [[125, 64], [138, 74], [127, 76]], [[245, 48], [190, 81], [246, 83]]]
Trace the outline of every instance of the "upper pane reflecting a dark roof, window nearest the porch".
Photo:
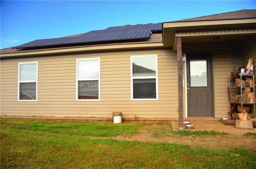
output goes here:
[[147, 77], [156, 76], [156, 57], [133, 57], [132, 58], [132, 76]]

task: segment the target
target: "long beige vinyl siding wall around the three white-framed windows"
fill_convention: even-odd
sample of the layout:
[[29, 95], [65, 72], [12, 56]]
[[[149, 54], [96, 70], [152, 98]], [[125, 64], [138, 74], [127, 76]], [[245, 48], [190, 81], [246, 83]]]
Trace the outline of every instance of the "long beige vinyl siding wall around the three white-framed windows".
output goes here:
[[[158, 55], [159, 100], [131, 101], [130, 56]], [[76, 101], [76, 59], [100, 57], [100, 101]], [[1, 115], [177, 118], [177, 56], [152, 49], [1, 60]], [[18, 63], [38, 61], [38, 101], [18, 102]]]

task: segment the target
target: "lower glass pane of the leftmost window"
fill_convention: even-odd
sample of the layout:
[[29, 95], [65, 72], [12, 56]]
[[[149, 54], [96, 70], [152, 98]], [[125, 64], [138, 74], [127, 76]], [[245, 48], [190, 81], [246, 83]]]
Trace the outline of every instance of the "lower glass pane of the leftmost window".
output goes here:
[[20, 83], [20, 100], [36, 100], [36, 83]]

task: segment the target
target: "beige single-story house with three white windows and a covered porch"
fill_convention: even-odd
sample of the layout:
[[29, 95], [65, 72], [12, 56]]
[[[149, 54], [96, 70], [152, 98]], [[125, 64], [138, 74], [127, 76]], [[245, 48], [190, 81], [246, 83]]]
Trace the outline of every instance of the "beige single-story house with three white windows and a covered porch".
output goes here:
[[35, 45], [40, 40], [2, 49], [1, 116], [226, 117], [230, 72], [256, 57], [256, 10], [161, 27], [150, 38]]

